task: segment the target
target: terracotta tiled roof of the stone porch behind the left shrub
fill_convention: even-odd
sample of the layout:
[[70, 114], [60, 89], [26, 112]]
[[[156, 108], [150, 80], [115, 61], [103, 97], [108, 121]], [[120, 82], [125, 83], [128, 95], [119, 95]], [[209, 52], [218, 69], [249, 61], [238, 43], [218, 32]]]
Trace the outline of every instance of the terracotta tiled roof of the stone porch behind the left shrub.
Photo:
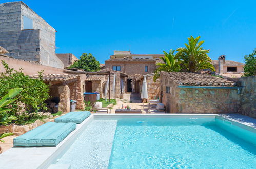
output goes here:
[[[30, 75], [30, 78], [37, 79], [39, 78], [38, 75]], [[74, 74], [43, 74], [42, 79], [44, 81], [67, 81], [71, 79], [75, 79], [79, 77], [79, 75], [74, 75]]]

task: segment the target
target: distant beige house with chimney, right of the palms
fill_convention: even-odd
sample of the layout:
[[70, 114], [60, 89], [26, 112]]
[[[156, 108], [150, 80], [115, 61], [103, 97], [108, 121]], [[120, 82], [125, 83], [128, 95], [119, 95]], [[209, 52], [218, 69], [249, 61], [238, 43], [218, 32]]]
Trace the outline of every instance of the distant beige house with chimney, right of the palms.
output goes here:
[[226, 60], [226, 56], [221, 55], [218, 60], [212, 60], [212, 65], [215, 67], [216, 74], [240, 74], [244, 72], [245, 64]]

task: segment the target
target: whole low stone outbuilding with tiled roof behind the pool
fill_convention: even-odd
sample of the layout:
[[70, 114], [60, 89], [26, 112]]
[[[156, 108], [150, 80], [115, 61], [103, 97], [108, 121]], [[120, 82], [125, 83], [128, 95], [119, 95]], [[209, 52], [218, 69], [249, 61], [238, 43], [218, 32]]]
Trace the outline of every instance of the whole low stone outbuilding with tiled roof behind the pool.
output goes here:
[[240, 88], [224, 78], [161, 72], [160, 101], [167, 113], [237, 113]]

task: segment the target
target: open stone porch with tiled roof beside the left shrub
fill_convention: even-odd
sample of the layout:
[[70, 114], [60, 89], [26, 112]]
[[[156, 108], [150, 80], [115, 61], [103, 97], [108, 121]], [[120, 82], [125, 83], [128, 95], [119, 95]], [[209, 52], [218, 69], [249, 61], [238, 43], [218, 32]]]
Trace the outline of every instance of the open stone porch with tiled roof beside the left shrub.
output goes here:
[[[38, 75], [31, 75], [30, 77], [39, 78]], [[84, 109], [82, 80], [79, 75], [44, 74], [42, 79], [50, 85], [50, 98], [47, 102], [55, 103], [58, 111], [69, 112], [70, 100], [77, 101], [76, 109]]]

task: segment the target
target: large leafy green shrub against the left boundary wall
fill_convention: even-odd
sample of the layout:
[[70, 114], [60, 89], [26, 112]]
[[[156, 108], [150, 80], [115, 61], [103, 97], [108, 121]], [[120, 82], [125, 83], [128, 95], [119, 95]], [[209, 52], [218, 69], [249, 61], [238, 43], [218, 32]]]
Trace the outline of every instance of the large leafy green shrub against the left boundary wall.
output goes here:
[[28, 75], [25, 75], [20, 69], [19, 71], [9, 68], [8, 64], [2, 60], [5, 72], [0, 73], [0, 97], [3, 97], [10, 89], [23, 88], [23, 91], [15, 96], [14, 102], [10, 103], [9, 108], [11, 115], [21, 112], [23, 104], [26, 105], [26, 110], [31, 112], [37, 112], [39, 110], [45, 110], [45, 100], [49, 97], [49, 87], [42, 80], [42, 73], [38, 72], [40, 78], [31, 79]]

